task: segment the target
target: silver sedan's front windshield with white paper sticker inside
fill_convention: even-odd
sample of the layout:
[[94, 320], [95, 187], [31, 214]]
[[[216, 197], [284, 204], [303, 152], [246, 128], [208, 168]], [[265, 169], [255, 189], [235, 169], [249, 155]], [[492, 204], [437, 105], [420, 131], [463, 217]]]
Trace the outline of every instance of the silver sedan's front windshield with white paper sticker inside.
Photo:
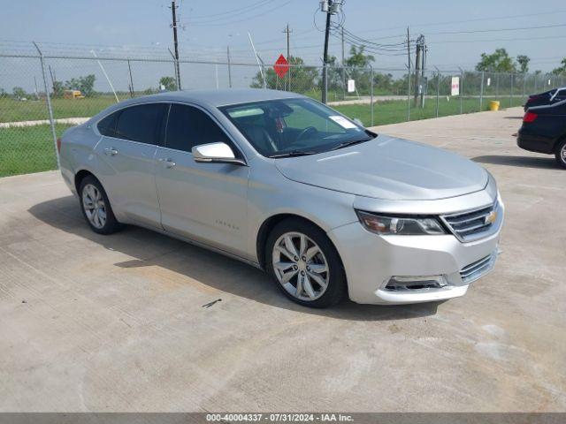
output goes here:
[[375, 134], [310, 99], [282, 99], [220, 108], [267, 157], [313, 155], [372, 140]]

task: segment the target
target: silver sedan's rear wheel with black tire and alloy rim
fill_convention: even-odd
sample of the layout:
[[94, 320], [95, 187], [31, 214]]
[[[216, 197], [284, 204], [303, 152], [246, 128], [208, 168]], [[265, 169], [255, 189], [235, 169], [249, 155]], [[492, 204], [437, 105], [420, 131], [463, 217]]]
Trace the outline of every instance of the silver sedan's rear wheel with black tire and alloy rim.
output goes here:
[[79, 201], [82, 216], [92, 231], [104, 235], [119, 231], [121, 225], [112, 212], [108, 196], [100, 181], [92, 175], [80, 181]]

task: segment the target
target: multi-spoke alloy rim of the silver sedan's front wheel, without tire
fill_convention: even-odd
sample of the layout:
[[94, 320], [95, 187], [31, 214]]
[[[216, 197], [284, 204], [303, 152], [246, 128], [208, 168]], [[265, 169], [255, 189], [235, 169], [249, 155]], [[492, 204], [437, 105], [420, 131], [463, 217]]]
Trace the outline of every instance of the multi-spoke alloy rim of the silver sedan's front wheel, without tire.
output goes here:
[[286, 232], [277, 239], [272, 265], [279, 284], [296, 299], [316, 300], [328, 288], [330, 272], [325, 254], [300, 232]]

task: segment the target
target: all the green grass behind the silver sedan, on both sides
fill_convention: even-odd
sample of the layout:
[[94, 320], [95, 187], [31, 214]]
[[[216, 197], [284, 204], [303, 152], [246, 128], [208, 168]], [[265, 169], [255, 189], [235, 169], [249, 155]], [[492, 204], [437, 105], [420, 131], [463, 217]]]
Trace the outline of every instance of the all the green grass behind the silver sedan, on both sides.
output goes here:
[[[483, 110], [487, 110], [490, 98], [484, 99]], [[523, 103], [521, 98], [513, 98], [513, 106]], [[91, 99], [54, 99], [54, 117], [92, 117], [108, 107], [115, 100], [111, 96], [101, 95]], [[509, 107], [509, 98], [501, 99], [501, 108]], [[335, 106], [334, 109], [348, 117], [359, 118], [363, 125], [371, 125], [370, 104]], [[479, 111], [478, 98], [464, 98], [463, 113]], [[441, 97], [439, 116], [460, 113], [460, 101]], [[410, 119], [436, 117], [436, 99], [426, 99], [424, 109], [410, 108]], [[43, 101], [16, 102], [12, 99], [0, 99], [0, 122], [47, 119], [47, 108]], [[406, 101], [384, 101], [374, 104], [374, 125], [386, 125], [407, 120]], [[57, 136], [70, 125], [57, 124]], [[53, 139], [49, 125], [35, 125], [19, 128], [0, 128], [0, 177], [10, 175], [54, 170], [57, 168]]]

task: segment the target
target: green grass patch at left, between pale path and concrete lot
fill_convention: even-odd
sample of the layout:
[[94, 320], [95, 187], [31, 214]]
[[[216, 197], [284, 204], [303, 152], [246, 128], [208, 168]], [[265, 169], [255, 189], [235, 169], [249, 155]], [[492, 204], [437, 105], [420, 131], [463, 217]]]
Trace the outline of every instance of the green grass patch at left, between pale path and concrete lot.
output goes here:
[[[57, 124], [57, 136], [69, 126]], [[0, 128], [0, 177], [55, 169], [50, 125]]]

